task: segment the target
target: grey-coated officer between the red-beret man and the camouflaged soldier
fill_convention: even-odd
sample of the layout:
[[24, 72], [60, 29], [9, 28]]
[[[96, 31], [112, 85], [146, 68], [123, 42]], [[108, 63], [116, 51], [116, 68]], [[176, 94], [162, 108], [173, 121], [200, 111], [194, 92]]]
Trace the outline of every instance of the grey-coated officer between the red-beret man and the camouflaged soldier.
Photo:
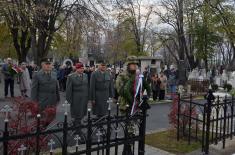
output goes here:
[[90, 97], [94, 115], [97, 117], [106, 115], [108, 112], [107, 100], [113, 96], [113, 80], [106, 70], [106, 64], [102, 61], [98, 70], [91, 74], [90, 80]]

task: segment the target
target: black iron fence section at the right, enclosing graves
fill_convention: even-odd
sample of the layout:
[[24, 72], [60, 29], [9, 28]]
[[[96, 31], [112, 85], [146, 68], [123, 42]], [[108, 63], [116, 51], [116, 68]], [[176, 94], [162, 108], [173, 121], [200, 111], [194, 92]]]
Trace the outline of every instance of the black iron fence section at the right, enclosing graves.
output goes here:
[[186, 138], [200, 141], [202, 152], [209, 154], [209, 145], [222, 142], [235, 136], [234, 97], [214, 97], [208, 93], [206, 100], [193, 101], [178, 96], [177, 139]]

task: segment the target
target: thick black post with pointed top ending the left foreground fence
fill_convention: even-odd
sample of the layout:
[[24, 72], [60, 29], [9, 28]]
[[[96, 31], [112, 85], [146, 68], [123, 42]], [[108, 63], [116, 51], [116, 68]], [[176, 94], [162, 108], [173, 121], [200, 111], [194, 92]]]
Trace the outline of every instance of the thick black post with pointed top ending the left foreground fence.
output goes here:
[[143, 103], [141, 104], [142, 109], [142, 121], [140, 124], [140, 133], [139, 136], [141, 137], [141, 140], [139, 141], [139, 155], [145, 154], [145, 132], [146, 132], [146, 117], [147, 117], [147, 109], [149, 109], [148, 105], [148, 98], [146, 95], [143, 96]]

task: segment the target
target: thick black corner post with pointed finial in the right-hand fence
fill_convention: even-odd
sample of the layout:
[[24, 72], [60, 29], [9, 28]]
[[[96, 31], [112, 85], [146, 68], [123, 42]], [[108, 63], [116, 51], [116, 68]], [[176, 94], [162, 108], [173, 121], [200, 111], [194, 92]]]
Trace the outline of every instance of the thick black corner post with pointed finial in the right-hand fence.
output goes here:
[[212, 90], [209, 90], [207, 96], [207, 105], [206, 107], [206, 142], [205, 142], [205, 154], [209, 154], [209, 145], [210, 145], [210, 121], [211, 121], [211, 105], [212, 101], [215, 99]]

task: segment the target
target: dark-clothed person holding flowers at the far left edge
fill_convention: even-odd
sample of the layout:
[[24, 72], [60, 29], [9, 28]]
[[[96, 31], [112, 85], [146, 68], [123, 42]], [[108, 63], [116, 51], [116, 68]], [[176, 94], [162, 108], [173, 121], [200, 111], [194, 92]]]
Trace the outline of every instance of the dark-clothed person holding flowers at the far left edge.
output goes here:
[[12, 72], [13, 62], [11, 58], [7, 58], [7, 62], [2, 66], [2, 73], [4, 76], [4, 91], [5, 98], [8, 96], [8, 88], [10, 86], [11, 97], [14, 97], [14, 80], [15, 73]]

